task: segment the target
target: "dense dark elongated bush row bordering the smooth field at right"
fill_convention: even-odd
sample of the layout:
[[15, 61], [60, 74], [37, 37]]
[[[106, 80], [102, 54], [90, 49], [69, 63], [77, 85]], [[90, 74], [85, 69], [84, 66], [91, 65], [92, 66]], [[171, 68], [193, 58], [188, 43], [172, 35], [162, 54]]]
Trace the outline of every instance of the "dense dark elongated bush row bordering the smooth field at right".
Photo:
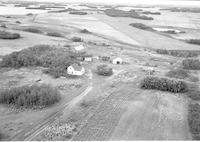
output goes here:
[[185, 82], [167, 78], [149, 76], [144, 78], [140, 85], [143, 89], [156, 89], [173, 93], [184, 93], [188, 91]]

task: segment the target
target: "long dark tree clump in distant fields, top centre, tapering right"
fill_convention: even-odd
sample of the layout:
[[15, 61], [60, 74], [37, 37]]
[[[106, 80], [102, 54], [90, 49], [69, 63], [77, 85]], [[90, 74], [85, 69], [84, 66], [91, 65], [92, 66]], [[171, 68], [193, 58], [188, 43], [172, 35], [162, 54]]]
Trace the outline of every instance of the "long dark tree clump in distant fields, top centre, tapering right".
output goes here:
[[104, 12], [106, 15], [111, 16], [111, 17], [131, 17], [131, 18], [142, 19], [142, 20], [153, 20], [152, 17], [140, 15], [138, 12], [134, 10], [123, 11], [123, 10], [111, 8], [111, 9], [106, 9]]

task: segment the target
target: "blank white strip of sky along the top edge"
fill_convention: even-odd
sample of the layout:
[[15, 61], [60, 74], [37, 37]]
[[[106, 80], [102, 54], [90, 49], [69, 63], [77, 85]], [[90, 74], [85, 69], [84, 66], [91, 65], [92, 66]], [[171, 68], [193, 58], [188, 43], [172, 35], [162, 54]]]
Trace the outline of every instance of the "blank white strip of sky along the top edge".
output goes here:
[[42, 2], [89, 2], [106, 4], [187, 5], [200, 7], [200, 0], [23, 0]]

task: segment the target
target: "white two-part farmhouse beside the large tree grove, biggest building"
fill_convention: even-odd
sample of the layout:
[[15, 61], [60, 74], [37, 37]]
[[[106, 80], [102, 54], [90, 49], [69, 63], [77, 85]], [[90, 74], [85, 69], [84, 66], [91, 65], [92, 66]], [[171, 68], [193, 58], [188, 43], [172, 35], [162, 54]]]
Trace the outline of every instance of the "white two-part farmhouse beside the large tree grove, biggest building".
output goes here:
[[70, 75], [81, 76], [85, 73], [85, 68], [74, 63], [67, 68], [67, 73]]

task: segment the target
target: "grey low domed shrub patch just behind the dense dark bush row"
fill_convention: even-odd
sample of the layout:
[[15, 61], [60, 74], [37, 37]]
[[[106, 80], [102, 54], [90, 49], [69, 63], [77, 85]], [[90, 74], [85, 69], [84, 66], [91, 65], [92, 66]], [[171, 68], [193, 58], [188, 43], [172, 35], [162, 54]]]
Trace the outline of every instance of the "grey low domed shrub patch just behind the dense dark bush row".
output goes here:
[[178, 69], [174, 69], [169, 71], [166, 76], [171, 77], [171, 78], [178, 78], [178, 79], [185, 79], [187, 77], [189, 77], [189, 73], [188, 71], [178, 68]]

